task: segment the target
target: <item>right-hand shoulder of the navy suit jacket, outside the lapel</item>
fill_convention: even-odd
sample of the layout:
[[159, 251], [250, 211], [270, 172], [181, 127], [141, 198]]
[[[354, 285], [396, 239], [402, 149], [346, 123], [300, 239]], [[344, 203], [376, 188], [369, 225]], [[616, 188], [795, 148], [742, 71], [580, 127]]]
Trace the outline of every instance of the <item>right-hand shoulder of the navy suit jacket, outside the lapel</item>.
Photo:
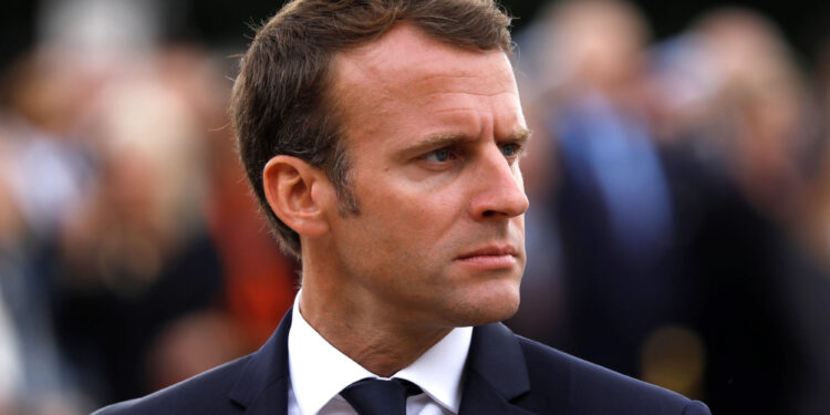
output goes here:
[[517, 338], [530, 377], [525, 396], [530, 406], [567, 408], [564, 414], [709, 415], [701, 402]]

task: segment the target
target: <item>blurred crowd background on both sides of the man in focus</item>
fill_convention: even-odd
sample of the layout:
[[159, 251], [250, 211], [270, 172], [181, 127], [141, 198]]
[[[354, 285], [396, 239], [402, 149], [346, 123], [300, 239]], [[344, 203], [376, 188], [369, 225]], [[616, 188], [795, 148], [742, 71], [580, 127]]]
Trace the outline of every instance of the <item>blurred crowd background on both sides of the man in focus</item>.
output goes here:
[[[715, 414], [827, 413], [830, 4], [502, 3], [535, 132], [508, 324]], [[298, 264], [226, 106], [281, 4], [4, 4], [0, 415], [85, 414], [274, 330]]]

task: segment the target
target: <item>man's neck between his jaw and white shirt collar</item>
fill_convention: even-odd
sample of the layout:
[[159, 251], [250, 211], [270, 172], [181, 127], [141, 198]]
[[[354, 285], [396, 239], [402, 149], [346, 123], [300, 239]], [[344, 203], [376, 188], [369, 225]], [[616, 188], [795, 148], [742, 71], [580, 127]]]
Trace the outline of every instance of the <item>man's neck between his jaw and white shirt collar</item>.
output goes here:
[[390, 310], [332, 276], [321, 278], [310, 271], [303, 273], [303, 319], [341, 353], [377, 376], [391, 377], [411, 365], [452, 331], [417, 324], [405, 312]]

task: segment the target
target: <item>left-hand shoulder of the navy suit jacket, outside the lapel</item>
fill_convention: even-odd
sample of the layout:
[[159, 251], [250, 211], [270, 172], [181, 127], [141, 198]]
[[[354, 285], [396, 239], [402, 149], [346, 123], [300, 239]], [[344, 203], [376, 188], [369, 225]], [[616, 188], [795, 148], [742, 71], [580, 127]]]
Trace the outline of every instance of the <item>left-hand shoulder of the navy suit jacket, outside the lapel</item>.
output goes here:
[[237, 359], [151, 395], [106, 406], [92, 415], [239, 413], [241, 407], [228, 397], [228, 393], [250, 357]]

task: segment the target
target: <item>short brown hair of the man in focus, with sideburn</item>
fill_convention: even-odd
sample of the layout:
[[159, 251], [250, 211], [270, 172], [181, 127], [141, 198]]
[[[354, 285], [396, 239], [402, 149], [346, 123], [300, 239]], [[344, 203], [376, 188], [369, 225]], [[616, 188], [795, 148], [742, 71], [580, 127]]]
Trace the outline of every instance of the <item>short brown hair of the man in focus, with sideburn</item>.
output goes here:
[[280, 154], [321, 168], [341, 212], [357, 214], [338, 108], [328, 96], [334, 54], [369, 43], [396, 22], [468, 50], [510, 54], [510, 18], [494, 0], [293, 0], [257, 31], [234, 85], [231, 118], [248, 179], [282, 247], [300, 257], [300, 237], [269, 208], [262, 184]]

